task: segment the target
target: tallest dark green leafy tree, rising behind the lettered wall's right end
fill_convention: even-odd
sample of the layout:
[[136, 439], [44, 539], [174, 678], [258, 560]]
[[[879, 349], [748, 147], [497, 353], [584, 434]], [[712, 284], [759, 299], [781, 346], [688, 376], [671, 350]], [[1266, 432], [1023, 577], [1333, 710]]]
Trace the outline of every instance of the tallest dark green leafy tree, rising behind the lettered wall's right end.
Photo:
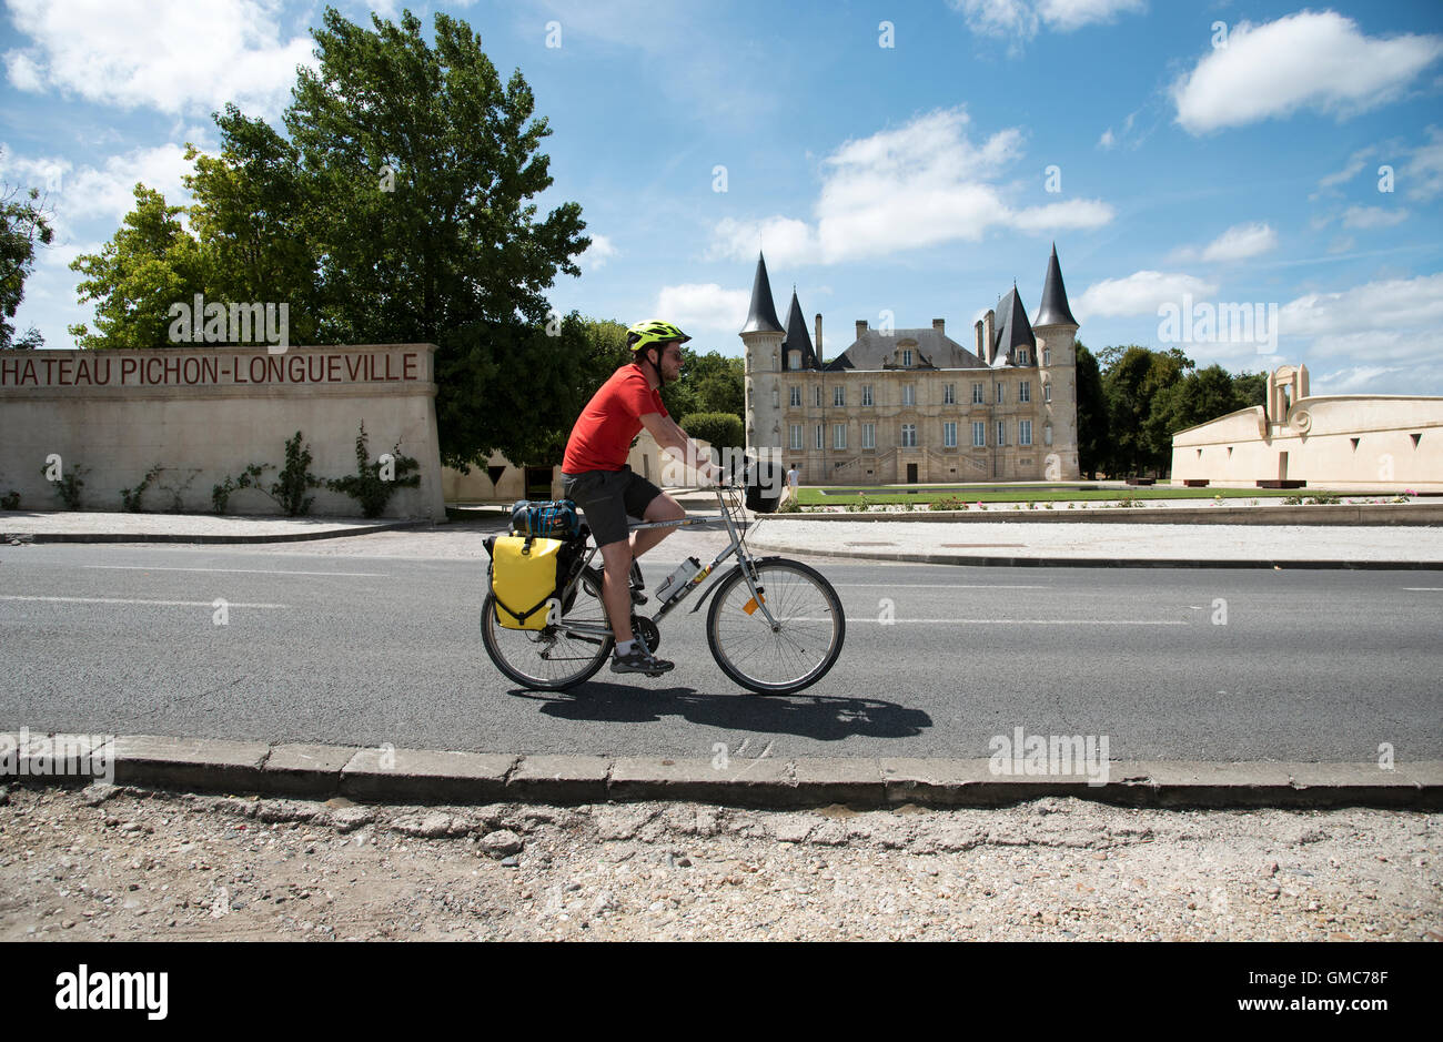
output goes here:
[[465, 22], [436, 14], [433, 48], [410, 12], [371, 20], [326, 9], [319, 69], [300, 71], [286, 111], [313, 182], [322, 328], [439, 345], [443, 460], [531, 459], [574, 372], [563, 354], [580, 343], [547, 335], [544, 296], [557, 271], [580, 274], [580, 206], [537, 219], [551, 131], [521, 72], [502, 84]]

